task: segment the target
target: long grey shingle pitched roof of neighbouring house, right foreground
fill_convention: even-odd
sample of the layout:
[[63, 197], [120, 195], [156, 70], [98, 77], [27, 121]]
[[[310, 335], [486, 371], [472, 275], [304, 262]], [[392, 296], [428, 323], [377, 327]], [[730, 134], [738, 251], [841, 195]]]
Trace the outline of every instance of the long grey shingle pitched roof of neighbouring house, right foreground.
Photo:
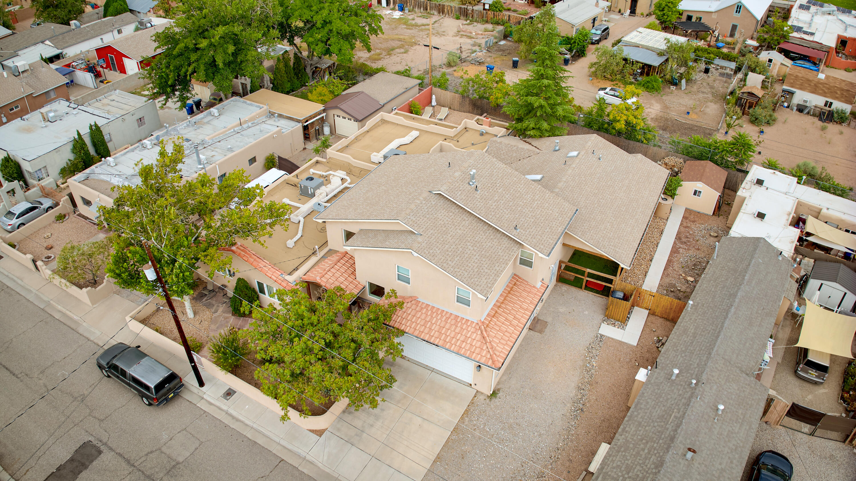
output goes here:
[[740, 478], [769, 391], [756, 373], [794, 290], [778, 255], [722, 239], [592, 481]]

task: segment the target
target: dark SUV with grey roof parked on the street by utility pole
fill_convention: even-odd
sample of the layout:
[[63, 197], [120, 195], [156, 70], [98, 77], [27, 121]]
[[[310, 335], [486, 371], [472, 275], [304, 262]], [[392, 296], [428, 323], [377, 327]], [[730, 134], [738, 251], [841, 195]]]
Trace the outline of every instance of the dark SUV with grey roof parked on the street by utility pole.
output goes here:
[[105, 377], [115, 377], [140, 395], [146, 406], [160, 406], [181, 392], [184, 383], [169, 367], [138, 347], [118, 342], [101, 353], [96, 364]]

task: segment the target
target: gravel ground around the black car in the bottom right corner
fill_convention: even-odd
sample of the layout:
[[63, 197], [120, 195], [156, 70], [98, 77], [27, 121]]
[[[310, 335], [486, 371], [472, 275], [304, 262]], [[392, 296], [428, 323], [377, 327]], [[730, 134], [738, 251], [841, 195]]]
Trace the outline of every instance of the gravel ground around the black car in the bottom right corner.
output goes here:
[[784, 454], [794, 465], [794, 481], [853, 481], [856, 479], [856, 454], [852, 446], [805, 435], [788, 428], [773, 428], [758, 423], [752, 450], [746, 460], [743, 480], [749, 479], [749, 470], [755, 456], [772, 449]]

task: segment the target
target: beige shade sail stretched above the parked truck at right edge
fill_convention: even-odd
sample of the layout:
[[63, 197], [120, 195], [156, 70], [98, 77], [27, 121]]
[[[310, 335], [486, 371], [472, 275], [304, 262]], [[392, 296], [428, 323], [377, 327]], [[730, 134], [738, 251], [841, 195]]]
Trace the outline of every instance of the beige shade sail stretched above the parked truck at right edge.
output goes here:
[[856, 335], [856, 318], [827, 311], [811, 302], [805, 303], [805, 320], [800, 332], [799, 347], [822, 353], [853, 358], [850, 350]]

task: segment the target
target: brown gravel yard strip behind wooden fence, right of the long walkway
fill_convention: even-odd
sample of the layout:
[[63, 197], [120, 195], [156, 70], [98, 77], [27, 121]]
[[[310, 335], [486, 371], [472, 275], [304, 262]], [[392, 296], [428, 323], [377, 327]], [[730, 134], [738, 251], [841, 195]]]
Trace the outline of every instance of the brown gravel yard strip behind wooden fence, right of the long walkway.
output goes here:
[[689, 209], [684, 212], [657, 293], [683, 301], [690, 298], [708, 261], [713, 257], [716, 242], [731, 230], [725, 223], [731, 213], [734, 195], [734, 191], [725, 191], [725, 201], [716, 216]]

